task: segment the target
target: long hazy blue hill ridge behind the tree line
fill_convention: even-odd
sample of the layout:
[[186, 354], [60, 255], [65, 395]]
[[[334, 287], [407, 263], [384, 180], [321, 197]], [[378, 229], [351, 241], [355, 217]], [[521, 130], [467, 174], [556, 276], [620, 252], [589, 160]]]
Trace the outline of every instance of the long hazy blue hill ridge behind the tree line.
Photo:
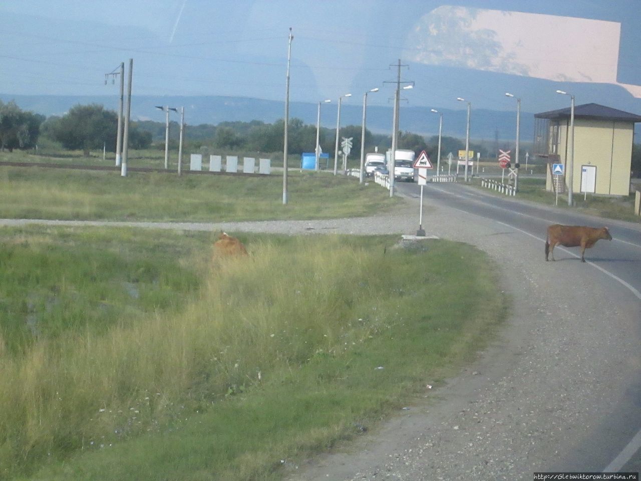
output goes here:
[[[117, 110], [117, 96], [22, 96], [0, 94], [0, 100], [15, 102], [23, 110], [31, 110], [43, 115], [63, 115], [76, 104], [99, 103], [106, 108]], [[218, 124], [224, 121], [259, 120], [274, 122], [285, 116], [284, 101], [253, 99], [247, 97], [161, 97], [133, 96], [131, 117], [135, 120], [153, 120], [163, 122], [165, 114], [156, 106], [185, 106], [185, 122], [191, 125]], [[443, 112], [443, 135], [465, 137], [467, 112], [465, 110], [439, 109]], [[306, 124], [315, 124], [317, 104], [290, 102], [290, 119], [298, 117]], [[179, 116], [171, 114], [174, 121]], [[342, 126], [360, 125], [362, 104], [354, 105], [353, 101], [344, 102], [341, 106]], [[336, 106], [322, 106], [322, 126], [336, 126]], [[401, 105], [400, 128], [420, 135], [438, 134], [438, 115], [429, 108]], [[392, 106], [368, 106], [367, 128], [374, 133], [388, 133], [392, 130]], [[531, 142], [534, 135], [534, 116], [528, 112], [521, 113], [520, 138]], [[474, 109], [470, 115], [470, 138], [476, 140], [494, 140], [498, 131], [499, 140], [513, 140], [516, 135], [516, 113], [499, 110]]]

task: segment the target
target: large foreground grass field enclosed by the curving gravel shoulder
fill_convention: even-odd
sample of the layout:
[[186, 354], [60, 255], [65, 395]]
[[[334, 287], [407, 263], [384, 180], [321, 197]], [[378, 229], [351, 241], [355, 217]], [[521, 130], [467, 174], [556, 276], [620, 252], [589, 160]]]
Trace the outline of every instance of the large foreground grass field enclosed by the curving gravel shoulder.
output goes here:
[[465, 244], [243, 234], [212, 261], [210, 236], [0, 229], [0, 477], [278, 480], [505, 316]]

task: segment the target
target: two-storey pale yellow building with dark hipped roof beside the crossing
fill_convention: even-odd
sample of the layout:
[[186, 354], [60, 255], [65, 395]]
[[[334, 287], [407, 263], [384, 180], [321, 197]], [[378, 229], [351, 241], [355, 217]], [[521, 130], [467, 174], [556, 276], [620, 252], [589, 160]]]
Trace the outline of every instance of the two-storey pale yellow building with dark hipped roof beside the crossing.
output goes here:
[[[545, 188], [566, 192], [572, 142], [570, 108], [534, 117], [535, 155], [546, 158], [549, 166]], [[640, 115], [595, 103], [574, 107], [573, 193], [629, 194], [635, 122], [641, 122]], [[553, 174], [553, 164], [563, 164], [563, 174]]]

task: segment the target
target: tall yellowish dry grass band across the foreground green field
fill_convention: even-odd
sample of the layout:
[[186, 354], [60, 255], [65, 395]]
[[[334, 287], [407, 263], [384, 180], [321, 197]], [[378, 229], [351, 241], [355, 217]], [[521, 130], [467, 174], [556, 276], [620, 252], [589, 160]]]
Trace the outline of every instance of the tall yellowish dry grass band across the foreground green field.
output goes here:
[[251, 257], [213, 264], [179, 314], [41, 339], [22, 357], [0, 342], [0, 473], [167, 428], [283, 366], [363, 342], [387, 316], [353, 307], [387, 289], [387, 262], [340, 237], [287, 251], [259, 241]]

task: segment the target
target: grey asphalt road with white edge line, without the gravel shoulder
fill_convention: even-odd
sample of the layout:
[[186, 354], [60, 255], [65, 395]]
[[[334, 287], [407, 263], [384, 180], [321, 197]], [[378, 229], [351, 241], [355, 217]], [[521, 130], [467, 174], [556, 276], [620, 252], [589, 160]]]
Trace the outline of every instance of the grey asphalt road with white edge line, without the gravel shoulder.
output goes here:
[[[420, 192], [417, 185], [397, 184], [397, 187], [400, 192], [409, 196], [417, 196]], [[424, 196], [428, 199], [426, 203], [431, 201], [434, 205], [447, 205], [451, 209], [491, 219], [504, 226], [506, 231], [516, 231], [513, 236], [516, 243], [528, 238], [544, 241], [545, 229], [553, 223], [608, 226], [613, 241], [599, 241], [598, 248], [586, 251], [586, 257], [590, 267], [605, 274], [600, 276], [603, 291], [620, 291], [629, 298], [622, 300], [622, 303], [631, 308], [633, 316], [636, 312], [637, 323], [629, 326], [627, 334], [641, 346], [641, 225], [580, 215], [552, 206], [546, 208], [534, 203], [522, 203], [459, 183], [428, 184], [424, 187]], [[579, 249], [556, 248], [555, 253], [561, 265], [562, 261], [576, 260]], [[543, 249], [540, 249], [540, 259], [543, 258]], [[578, 267], [583, 271], [579, 273], [581, 276], [594, 274], [586, 273], [587, 269], [582, 266]], [[565, 291], [572, 289], [572, 285], [551, 285], [551, 289]], [[611, 315], [616, 316], [616, 312]], [[612, 348], [617, 349], [616, 346]], [[602, 415], [595, 417], [594, 424], [583, 441], [572, 443], [562, 457], [551, 462], [550, 470], [567, 471], [567, 468], [587, 466], [590, 470], [602, 471], [610, 466], [609, 470], [616, 468], [621, 471], [641, 471], [641, 365], [638, 352], [636, 355], [633, 352], [629, 355], [633, 357], [629, 360], [637, 369], [629, 372], [622, 391], [612, 393], [612, 397], [617, 396], [617, 399], [613, 400]], [[627, 451], [624, 452], [626, 448]], [[614, 462], [617, 457], [617, 462]], [[612, 462], [606, 463], [609, 459]]]

